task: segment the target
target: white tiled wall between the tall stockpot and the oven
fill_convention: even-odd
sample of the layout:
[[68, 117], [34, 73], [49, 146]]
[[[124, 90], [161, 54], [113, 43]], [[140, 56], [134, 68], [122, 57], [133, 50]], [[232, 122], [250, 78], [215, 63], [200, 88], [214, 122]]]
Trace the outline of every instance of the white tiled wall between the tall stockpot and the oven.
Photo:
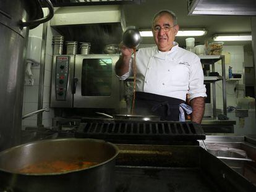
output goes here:
[[[44, 14], [47, 14], [47, 9], [43, 9]], [[38, 36], [42, 38], [43, 35], [43, 24], [29, 31], [29, 36]], [[59, 35], [59, 33], [50, 27], [50, 22], [48, 22], [47, 30], [47, 40], [46, 40], [46, 58], [45, 58], [45, 79], [44, 79], [44, 89], [43, 89], [43, 108], [47, 107], [48, 110], [43, 112], [43, 125], [44, 127], [51, 127], [52, 118], [54, 117], [53, 109], [49, 108], [50, 99], [50, 87], [51, 87], [51, 65], [53, 59], [53, 48], [52, 48], [52, 38], [54, 35]], [[41, 45], [40, 45], [41, 46]], [[32, 74], [34, 85], [25, 86], [24, 89], [24, 99], [23, 99], [23, 114], [28, 114], [38, 110], [38, 89], [39, 89], [39, 78], [40, 78], [40, 66], [32, 67]], [[28, 78], [27, 75], [25, 78]], [[22, 121], [22, 127], [35, 127], [37, 125], [37, 115], [28, 117]]]

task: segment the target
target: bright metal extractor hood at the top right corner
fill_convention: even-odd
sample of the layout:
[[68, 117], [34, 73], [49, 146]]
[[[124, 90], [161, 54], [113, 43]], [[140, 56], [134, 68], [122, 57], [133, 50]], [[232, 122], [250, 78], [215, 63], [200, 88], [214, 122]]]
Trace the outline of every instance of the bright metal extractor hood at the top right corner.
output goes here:
[[256, 15], [256, 0], [187, 0], [189, 15]]

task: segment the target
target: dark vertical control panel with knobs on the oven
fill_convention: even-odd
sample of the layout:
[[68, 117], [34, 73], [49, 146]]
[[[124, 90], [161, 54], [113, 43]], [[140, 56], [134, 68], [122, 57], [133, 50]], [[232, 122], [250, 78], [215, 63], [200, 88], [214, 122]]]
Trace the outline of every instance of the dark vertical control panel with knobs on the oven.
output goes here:
[[69, 79], [69, 56], [56, 57], [56, 100], [64, 101], [67, 96], [67, 83]]

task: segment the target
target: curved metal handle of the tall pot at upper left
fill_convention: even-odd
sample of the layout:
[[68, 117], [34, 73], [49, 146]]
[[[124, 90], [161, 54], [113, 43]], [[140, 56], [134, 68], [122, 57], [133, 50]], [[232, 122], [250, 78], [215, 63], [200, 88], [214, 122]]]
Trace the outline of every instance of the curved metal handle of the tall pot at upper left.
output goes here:
[[30, 27], [32, 25], [38, 25], [38, 24], [41, 24], [41, 23], [48, 22], [48, 20], [52, 19], [53, 15], [54, 15], [53, 4], [51, 4], [51, 1], [49, 1], [49, 0], [45, 0], [45, 2], [46, 2], [47, 6], [48, 6], [48, 9], [49, 9], [49, 13], [48, 13], [48, 15], [46, 15], [46, 17], [43, 17], [41, 19], [36, 19], [36, 20], [30, 20], [30, 21], [27, 21], [27, 22], [20, 22], [20, 26], [21, 27]]

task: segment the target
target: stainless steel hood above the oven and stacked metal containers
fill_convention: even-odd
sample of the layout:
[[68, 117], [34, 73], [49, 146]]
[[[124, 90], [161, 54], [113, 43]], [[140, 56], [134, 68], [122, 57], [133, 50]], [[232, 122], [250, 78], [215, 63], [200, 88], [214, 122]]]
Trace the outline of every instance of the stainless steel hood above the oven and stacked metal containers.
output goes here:
[[74, 6], [55, 8], [51, 27], [65, 41], [91, 43], [91, 53], [102, 53], [106, 44], [120, 43], [126, 22], [122, 6]]

